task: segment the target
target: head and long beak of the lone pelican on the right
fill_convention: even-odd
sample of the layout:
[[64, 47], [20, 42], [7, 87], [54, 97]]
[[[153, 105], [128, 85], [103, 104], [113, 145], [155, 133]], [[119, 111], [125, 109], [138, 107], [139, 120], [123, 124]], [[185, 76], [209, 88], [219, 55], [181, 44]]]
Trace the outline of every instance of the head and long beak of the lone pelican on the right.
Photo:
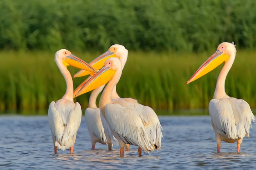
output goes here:
[[196, 79], [202, 77], [203, 75], [209, 73], [214, 68], [222, 64], [223, 62], [231, 61], [232, 63], [235, 60], [236, 56], [236, 45], [234, 42], [222, 42], [217, 51], [211, 55], [192, 75], [192, 77], [186, 82], [189, 84], [190, 82], [195, 81]]

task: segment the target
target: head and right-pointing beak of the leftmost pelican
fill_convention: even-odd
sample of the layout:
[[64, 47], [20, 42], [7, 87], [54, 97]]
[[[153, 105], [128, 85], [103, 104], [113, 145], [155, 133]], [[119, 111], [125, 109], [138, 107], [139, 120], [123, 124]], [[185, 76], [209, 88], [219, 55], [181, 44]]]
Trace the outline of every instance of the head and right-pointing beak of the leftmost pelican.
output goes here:
[[81, 60], [79, 57], [73, 55], [70, 51], [66, 49], [61, 49], [55, 53], [55, 62], [61, 61], [65, 67], [74, 66], [76, 68], [84, 69], [90, 73], [96, 73], [97, 70], [90, 66], [88, 63]]

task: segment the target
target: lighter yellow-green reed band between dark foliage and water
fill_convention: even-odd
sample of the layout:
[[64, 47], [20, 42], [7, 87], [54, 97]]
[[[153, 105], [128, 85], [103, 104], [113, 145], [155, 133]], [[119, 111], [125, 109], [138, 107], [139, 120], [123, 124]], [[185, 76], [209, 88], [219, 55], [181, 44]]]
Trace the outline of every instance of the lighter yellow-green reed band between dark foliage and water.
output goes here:
[[[73, 53], [87, 62], [100, 54]], [[212, 53], [129, 51], [117, 92], [159, 110], [208, 108], [222, 66], [191, 84], [186, 81]], [[226, 80], [227, 94], [245, 99], [252, 108], [256, 108], [255, 54], [238, 49]], [[66, 84], [54, 62], [54, 53], [1, 51], [0, 56], [0, 110], [47, 110], [50, 102], [64, 95]], [[72, 75], [78, 71], [68, 69]], [[85, 78], [74, 78], [74, 88]], [[90, 92], [75, 101], [86, 108], [89, 96]]]

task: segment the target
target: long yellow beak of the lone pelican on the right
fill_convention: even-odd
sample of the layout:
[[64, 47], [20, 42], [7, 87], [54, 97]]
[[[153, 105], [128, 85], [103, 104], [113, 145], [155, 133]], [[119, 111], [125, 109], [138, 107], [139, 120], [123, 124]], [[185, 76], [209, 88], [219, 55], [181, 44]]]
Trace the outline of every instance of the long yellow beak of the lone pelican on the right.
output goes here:
[[203, 75], [206, 75], [214, 68], [219, 66], [222, 62], [227, 62], [227, 60], [229, 60], [229, 55], [217, 50], [198, 68], [198, 70], [194, 73], [194, 75], [192, 75], [192, 77], [186, 82], [186, 84], [189, 84], [190, 82], [193, 82], [194, 80], [202, 77]]

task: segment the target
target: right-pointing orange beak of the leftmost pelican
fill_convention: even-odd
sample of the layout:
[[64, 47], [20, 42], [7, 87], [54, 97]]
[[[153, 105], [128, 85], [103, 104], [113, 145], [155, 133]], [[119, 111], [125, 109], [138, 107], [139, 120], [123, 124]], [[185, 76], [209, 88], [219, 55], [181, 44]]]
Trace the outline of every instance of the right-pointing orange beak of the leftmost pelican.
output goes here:
[[97, 70], [93, 68], [90, 64], [83, 61], [79, 57], [76, 57], [73, 54], [66, 56], [65, 62], [67, 62], [70, 66], [86, 70], [89, 73], [97, 73]]

